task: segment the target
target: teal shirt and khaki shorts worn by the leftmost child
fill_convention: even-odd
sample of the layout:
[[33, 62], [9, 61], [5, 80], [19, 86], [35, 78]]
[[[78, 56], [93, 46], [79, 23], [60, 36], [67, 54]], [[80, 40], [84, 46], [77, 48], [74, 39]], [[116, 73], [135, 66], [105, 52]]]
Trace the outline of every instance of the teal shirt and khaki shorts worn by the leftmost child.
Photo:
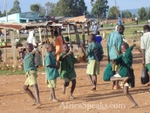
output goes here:
[[27, 77], [24, 84], [29, 86], [37, 84], [37, 69], [34, 64], [34, 56], [32, 52], [25, 55], [23, 67]]

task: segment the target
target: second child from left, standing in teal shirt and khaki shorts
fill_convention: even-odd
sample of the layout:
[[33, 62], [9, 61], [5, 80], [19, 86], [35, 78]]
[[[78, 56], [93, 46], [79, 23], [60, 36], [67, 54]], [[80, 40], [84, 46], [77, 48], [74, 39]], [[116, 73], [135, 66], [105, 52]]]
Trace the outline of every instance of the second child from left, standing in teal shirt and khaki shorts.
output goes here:
[[55, 90], [56, 88], [56, 79], [59, 77], [58, 73], [58, 66], [56, 65], [55, 57], [52, 55], [53, 52], [53, 45], [46, 44], [46, 57], [44, 60], [45, 66], [46, 66], [46, 79], [48, 82], [48, 87], [51, 91], [51, 100], [54, 102], [58, 102], [55, 96]]

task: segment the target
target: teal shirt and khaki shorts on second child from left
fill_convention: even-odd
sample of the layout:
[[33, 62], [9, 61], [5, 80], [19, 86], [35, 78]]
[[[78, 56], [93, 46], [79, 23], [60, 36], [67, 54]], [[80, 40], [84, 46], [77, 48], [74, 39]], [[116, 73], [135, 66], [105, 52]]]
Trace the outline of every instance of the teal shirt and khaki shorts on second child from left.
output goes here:
[[46, 79], [48, 81], [48, 87], [56, 88], [56, 79], [59, 77], [59, 73], [58, 69], [49, 67], [50, 65], [56, 65], [56, 59], [52, 53], [46, 53], [44, 64], [46, 66]]

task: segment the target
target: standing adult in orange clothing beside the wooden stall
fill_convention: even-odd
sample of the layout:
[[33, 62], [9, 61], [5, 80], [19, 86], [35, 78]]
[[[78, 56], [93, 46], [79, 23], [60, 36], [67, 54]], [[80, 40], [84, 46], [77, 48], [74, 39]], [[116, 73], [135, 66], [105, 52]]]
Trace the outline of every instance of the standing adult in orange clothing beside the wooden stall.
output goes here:
[[56, 60], [59, 62], [60, 54], [63, 52], [63, 38], [58, 34], [57, 31], [54, 31], [55, 36], [55, 47], [56, 47]]

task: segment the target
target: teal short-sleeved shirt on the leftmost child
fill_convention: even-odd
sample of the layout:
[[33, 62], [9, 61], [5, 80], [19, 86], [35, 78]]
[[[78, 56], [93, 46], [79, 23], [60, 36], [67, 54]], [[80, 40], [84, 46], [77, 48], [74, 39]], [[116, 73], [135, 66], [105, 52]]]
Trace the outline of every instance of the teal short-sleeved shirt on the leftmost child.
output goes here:
[[23, 60], [23, 67], [24, 71], [30, 71], [30, 70], [36, 70], [35, 64], [34, 64], [34, 56], [32, 52], [25, 55]]

